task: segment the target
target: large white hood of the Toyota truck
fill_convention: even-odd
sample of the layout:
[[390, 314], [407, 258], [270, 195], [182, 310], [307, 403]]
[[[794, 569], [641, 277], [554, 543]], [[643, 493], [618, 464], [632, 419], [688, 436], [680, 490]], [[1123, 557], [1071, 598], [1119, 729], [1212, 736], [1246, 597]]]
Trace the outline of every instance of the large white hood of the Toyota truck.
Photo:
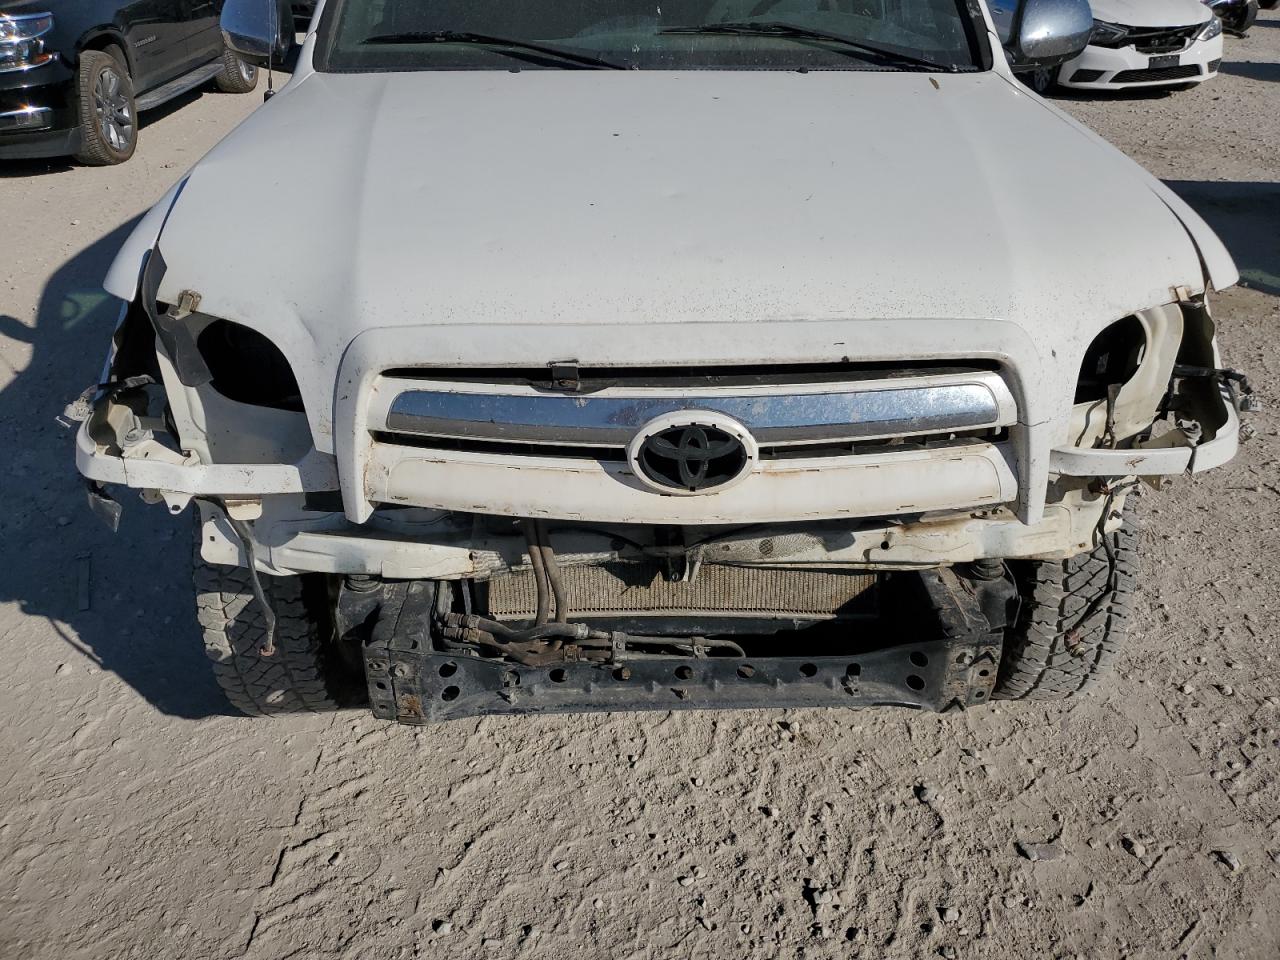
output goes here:
[[175, 196], [160, 298], [271, 337], [321, 449], [364, 333], [527, 367], [768, 361], [790, 338], [751, 324], [861, 320], [995, 355], [965, 343], [991, 319], [1069, 392], [1106, 324], [1204, 287], [1148, 174], [996, 73], [315, 73]]

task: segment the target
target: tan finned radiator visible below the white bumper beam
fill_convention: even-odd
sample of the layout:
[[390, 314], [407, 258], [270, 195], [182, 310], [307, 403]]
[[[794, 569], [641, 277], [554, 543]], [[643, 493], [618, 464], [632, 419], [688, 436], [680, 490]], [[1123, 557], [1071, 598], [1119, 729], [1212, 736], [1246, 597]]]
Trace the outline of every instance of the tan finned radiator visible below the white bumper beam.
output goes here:
[[[800, 617], [865, 616], [874, 573], [703, 564], [691, 582], [667, 580], [657, 562], [611, 561], [563, 567], [575, 618], [618, 616]], [[529, 620], [538, 608], [532, 571], [489, 582], [489, 616]]]

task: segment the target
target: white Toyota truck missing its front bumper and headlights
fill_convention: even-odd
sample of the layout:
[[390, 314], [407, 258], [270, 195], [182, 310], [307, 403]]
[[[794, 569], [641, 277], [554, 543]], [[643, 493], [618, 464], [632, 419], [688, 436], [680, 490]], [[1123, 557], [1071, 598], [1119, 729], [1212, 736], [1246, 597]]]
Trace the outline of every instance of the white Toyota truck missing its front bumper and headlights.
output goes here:
[[[1236, 449], [1238, 276], [1015, 79], [1085, 0], [1001, 15], [323, 0], [110, 270], [91, 503], [198, 509], [251, 714], [1075, 694], [1135, 486]], [[287, 20], [223, 13], [261, 64]]]

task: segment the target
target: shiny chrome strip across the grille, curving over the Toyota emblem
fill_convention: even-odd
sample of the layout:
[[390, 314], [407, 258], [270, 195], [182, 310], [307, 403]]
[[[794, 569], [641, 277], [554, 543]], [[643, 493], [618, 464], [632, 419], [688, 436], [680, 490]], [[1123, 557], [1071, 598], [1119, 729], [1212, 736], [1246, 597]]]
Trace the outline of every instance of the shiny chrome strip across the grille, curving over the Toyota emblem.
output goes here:
[[682, 411], [733, 417], [760, 444], [859, 440], [1004, 426], [986, 383], [822, 393], [631, 396], [406, 390], [387, 429], [424, 436], [516, 443], [626, 445], [654, 417]]

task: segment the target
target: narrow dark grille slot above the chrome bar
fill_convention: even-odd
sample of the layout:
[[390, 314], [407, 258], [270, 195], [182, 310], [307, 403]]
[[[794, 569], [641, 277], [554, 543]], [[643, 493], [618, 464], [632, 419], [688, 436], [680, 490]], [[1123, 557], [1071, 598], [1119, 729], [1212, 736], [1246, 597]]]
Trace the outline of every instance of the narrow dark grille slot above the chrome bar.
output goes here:
[[[608, 387], [753, 387], [772, 384], [837, 383], [916, 376], [920, 374], [969, 374], [997, 371], [987, 360], [886, 360], [840, 364], [737, 364], [717, 366], [582, 366], [573, 393]], [[762, 370], [764, 372], [762, 372]], [[566, 392], [552, 379], [550, 367], [396, 367], [383, 376], [433, 383], [475, 383], [532, 387]]]

